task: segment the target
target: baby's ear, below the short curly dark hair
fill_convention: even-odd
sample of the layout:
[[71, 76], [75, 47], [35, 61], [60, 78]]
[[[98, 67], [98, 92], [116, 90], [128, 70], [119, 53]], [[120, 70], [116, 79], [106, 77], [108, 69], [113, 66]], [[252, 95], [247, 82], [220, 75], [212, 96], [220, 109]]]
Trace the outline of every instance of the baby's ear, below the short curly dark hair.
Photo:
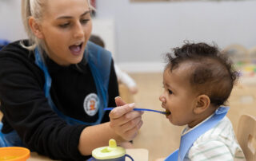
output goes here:
[[196, 104], [194, 107], [194, 114], [200, 114], [210, 106], [210, 98], [206, 95], [200, 95], [196, 98]]

